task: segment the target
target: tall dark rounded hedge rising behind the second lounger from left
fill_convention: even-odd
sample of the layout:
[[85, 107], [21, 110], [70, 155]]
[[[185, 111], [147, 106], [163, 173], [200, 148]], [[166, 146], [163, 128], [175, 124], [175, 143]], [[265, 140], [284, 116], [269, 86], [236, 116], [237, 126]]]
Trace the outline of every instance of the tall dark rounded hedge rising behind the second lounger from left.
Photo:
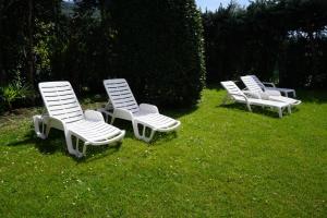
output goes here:
[[112, 0], [117, 25], [116, 75], [138, 101], [197, 102], [205, 83], [203, 27], [194, 0]]

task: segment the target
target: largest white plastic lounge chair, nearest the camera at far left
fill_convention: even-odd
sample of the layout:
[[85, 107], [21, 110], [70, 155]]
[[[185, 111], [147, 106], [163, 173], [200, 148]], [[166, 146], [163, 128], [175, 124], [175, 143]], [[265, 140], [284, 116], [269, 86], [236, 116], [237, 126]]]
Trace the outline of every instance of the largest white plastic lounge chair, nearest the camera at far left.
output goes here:
[[[39, 83], [38, 87], [47, 109], [46, 114], [33, 117], [38, 137], [45, 140], [51, 128], [63, 130], [68, 150], [76, 157], [85, 155], [87, 145], [105, 145], [123, 138], [125, 131], [106, 123], [100, 112], [83, 112], [69, 82]], [[76, 137], [75, 148], [72, 136]], [[84, 141], [82, 153], [78, 150], [78, 140]]]

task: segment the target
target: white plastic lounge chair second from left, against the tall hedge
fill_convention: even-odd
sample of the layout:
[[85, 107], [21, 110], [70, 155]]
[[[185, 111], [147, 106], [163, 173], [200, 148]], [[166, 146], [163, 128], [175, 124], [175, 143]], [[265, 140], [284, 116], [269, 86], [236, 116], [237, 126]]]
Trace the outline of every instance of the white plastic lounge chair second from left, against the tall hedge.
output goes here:
[[[124, 78], [105, 80], [104, 85], [109, 102], [98, 111], [106, 114], [106, 121], [110, 116], [111, 124], [116, 118], [132, 121], [134, 134], [138, 140], [149, 142], [155, 132], [170, 132], [180, 126], [180, 121], [160, 114], [156, 106], [148, 104], [138, 106]], [[142, 128], [142, 133], [138, 128]], [[146, 129], [150, 130], [149, 134], [146, 134]]]

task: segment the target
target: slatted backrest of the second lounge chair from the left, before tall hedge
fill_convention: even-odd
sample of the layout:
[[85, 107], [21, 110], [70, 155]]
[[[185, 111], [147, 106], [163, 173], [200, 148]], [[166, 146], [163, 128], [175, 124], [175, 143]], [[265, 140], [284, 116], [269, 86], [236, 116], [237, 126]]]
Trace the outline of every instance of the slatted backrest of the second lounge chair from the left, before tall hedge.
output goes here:
[[133, 93], [124, 78], [105, 80], [104, 85], [113, 109], [122, 108], [130, 110], [132, 113], [140, 111]]

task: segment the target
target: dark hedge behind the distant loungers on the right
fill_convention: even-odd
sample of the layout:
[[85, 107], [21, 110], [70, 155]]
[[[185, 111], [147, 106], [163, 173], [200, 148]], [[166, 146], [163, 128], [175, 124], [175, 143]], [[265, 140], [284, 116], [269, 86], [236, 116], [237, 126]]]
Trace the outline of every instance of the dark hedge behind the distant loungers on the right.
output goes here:
[[230, 3], [203, 14], [208, 81], [255, 73], [293, 87], [326, 84], [327, 2]]

